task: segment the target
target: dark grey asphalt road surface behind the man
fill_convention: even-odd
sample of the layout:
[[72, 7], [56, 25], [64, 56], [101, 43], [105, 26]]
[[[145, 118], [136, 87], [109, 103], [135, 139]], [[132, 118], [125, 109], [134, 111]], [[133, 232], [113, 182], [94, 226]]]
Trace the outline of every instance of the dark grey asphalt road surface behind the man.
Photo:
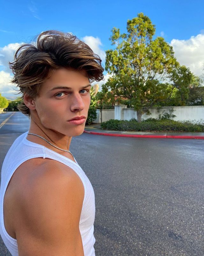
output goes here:
[[[29, 128], [20, 112], [0, 115], [1, 163]], [[70, 151], [95, 192], [96, 256], [204, 255], [204, 140], [83, 133]], [[0, 255], [10, 255], [0, 240]]]

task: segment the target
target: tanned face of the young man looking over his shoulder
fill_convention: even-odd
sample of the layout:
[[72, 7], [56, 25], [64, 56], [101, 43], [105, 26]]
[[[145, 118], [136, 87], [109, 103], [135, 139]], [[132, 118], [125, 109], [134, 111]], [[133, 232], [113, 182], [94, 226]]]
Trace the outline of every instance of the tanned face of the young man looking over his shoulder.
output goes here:
[[[85, 71], [72, 68], [55, 70], [53, 75], [42, 84], [40, 96], [34, 100], [33, 114], [38, 116], [40, 125], [46, 129], [69, 137], [80, 135], [84, 132], [91, 102], [90, 89]], [[82, 124], [69, 122], [76, 116], [86, 118], [83, 119]]]

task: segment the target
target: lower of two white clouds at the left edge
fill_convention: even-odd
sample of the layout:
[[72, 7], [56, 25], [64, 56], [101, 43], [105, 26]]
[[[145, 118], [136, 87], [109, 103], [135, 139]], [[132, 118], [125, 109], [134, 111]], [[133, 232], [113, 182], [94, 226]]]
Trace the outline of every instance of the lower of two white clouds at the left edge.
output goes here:
[[8, 97], [8, 98], [13, 98], [17, 91], [14, 89], [16, 86], [11, 83], [12, 76], [11, 74], [4, 72], [3, 70], [0, 71], [0, 93], [2, 96]]

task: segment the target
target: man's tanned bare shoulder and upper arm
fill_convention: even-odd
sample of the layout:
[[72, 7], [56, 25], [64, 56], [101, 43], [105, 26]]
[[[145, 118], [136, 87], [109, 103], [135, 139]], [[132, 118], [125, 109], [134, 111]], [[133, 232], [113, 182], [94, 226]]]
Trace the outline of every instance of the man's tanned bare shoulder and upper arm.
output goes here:
[[54, 160], [41, 168], [20, 199], [15, 225], [19, 256], [84, 256], [79, 231], [83, 183]]

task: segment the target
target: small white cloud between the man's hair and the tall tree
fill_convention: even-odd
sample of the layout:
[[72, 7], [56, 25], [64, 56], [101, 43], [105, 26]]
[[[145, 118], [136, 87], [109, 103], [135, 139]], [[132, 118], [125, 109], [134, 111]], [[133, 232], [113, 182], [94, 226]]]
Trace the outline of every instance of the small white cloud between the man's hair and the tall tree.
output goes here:
[[100, 38], [93, 36], [84, 36], [82, 40], [91, 47], [94, 53], [100, 56], [101, 60], [104, 61], [106, 59], [106, 52], [100, 49], [100, 46], [102, 46]]

